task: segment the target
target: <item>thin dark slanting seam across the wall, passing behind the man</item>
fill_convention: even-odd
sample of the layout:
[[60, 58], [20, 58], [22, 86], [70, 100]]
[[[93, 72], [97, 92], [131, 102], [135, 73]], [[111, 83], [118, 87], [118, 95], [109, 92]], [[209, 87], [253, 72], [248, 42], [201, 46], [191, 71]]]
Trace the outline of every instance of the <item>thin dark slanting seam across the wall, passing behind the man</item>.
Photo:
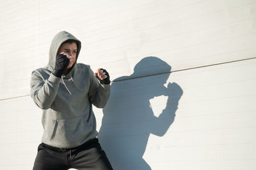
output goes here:
[[[161, 75], [161, 74], [164, 74], [164, 73], [182, 72], [182, 71], [186, 71], [186, 70], [193, 70], [193, 69], [196, 69], [196, 68], [204, 68], [204, 67], [208, 67], [208, 66], [224, 65], [224, 64], [227, 64], [227, 63], [236, 63], [236, 62], [239, 62], [239, 61], [246, 61], [246, 60], [250, 60], [250, 59], [256, 59], [256, 57], [246, 58], [246, 59], [239, 59], [239, 60], [235, 60], [235, 61], [226, 61], [226, 62], [223, 62], [223, 63], [216, 63], [216, 64], [212, 64], [212, 65], [196, 66], [196, 67], [192, 67], [192, 68], [184, 68], [184, 69], [180, 69], [180, 70], [174, 70], [174, 71], [171, 71], [171, 72], [153, 73], [153, 74], [149, 74], [149, 75], [142, 75], [142, 76], [131, 77], [131, 78], [127, 78], [127, 79], [120, 79], [120, 80], [116, 80], [116, 81], [114, 80], [114, 81], [111, 81], [111, 82], [127, 81], [127, 80], [132, 80], [132, 79], [140, 79], [142, 77], [150, 77], [150, 76], [154, 76], [154, 75]], [[18, 97], [1, 98], [0, 101], [10, 100], [10, 99], [13, 99], [13, 98], [28, 97], [28, 96], [29, 95], [22, 95], [22, 96], [18, 96]]]

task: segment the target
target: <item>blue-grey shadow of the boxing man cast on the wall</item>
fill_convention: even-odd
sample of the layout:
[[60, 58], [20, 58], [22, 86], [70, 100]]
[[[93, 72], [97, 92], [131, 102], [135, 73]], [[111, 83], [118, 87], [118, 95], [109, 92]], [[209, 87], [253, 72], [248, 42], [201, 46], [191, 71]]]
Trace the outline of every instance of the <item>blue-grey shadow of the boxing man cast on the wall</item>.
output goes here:
[[[166, 133], [175, 119], [183, 93], [175, 82], [169, 82], [167, 88], [164, 86], [170, 70], [171, 66], [163, 60], [147, 57], [134, 67], [132, 75], [119, 77], [111, 84], [111, 96], [103, 109], [98, 137], [113, 169], [151, 169], [143, 159], [148, 137], [150, 134], [163, 136]], [[150, 76], [144, 76], [148, 74]], [[162, 95], [168, 100], [157, 117], [152, 111], [150, 99]]]

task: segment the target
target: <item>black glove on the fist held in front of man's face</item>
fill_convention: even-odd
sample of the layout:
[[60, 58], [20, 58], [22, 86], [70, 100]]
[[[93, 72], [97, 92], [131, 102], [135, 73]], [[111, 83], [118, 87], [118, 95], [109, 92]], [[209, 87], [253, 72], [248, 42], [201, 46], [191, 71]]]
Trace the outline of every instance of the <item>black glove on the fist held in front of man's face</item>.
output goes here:
[[63, 72], [66, 70], [67, 66], [69, 64], [69, 59], [67, 56], [60, 54], [56, 57], [55, 67], [52, 70], [52, 73], [56, 77], [61, 77]]

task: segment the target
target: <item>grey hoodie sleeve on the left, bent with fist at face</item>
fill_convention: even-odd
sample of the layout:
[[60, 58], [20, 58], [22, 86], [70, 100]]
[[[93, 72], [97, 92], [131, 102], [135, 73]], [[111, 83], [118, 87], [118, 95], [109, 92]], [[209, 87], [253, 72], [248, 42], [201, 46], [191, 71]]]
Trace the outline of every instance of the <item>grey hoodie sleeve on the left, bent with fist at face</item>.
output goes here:
[[44, 80], [40, 73], [36, 71], [32, 72], [30, 83], [31, 97], [41, 109], [49, 109], [51, 107], [59, 86], [60, 78], [52, 73], [48, 79]]

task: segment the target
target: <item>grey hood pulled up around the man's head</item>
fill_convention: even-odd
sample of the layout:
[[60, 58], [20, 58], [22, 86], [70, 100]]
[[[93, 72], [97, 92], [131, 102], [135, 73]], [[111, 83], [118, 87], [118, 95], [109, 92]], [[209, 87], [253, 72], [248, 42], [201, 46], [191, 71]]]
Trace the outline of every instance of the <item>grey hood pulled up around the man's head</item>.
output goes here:
[[[63, 42], [67, 40], [76, 40], [77, 41], [77, 55], [76, 55], [76, 62], [79, 55], [79, 52], [81, 50], [81, 42], [72, 34], [68, 33], [67, 31], [61, 31], [57, 35], [54, 36], [52, 39], [50, 51], [49, 51], [49, 63], [47, 64], [47, 67], [49, 66], [49, 70], [53, 70], [56, 62], [56, 56], [58, 55], [58, 50], [60, 49], [60, 46]], [[70, 72], [74, 70], [74, 67], [76, 66], [76, 62], [70, 68]]]

